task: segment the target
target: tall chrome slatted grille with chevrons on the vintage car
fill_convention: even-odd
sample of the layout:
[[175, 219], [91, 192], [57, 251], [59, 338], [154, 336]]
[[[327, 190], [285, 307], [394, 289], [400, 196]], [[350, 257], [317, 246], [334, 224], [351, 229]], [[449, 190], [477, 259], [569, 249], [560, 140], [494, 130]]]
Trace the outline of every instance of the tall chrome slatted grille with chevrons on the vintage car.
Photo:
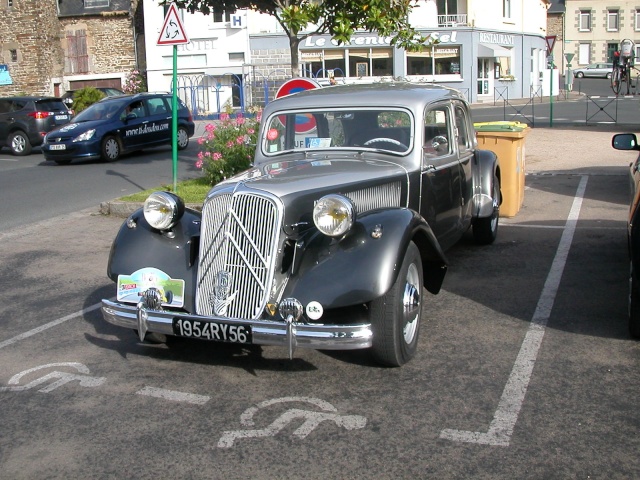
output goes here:
[[202, 210], [196, 311], [257, 319], [269, 299], [282, 208], [255, 192], [226, 192]]

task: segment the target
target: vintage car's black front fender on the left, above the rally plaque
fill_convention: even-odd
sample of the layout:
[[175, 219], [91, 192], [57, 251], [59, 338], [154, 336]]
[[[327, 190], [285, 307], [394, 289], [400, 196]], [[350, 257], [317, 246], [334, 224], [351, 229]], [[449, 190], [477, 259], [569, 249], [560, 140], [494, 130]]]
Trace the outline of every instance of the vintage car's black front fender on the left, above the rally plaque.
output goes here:
[[107, 275], [117, 282], [118, 275], [157, 268], [173, 279], [184, 280], [184, 308], [195, 312], [201, 218], [199, 212], [185, 209], [177, 225], [169, 232], [160, 232], [147, 223], [142, 209], [136, 210], [122, 224], [111, 245]]

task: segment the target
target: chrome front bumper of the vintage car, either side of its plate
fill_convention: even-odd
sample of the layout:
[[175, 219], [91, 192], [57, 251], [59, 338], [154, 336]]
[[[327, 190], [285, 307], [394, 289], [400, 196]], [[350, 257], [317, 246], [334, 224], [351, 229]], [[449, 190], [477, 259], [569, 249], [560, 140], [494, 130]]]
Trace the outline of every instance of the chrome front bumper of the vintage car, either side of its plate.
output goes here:
[[189, 318], [229, 325], [251, 326], [254, 345], [288, 347], [289, 356], [296, 347], [317, 350], [356, 350], [371, 346], [371, 325], [320, 325], [295, 321], [244, 320], [225, 317], [206, 317], [167, 310], [152, 310], [142, 304], [130, 305], [102, 300], [104, 319], [120, 327], [138, 330], [141, 338], [146, 332], [173, 335], [173, 320]]

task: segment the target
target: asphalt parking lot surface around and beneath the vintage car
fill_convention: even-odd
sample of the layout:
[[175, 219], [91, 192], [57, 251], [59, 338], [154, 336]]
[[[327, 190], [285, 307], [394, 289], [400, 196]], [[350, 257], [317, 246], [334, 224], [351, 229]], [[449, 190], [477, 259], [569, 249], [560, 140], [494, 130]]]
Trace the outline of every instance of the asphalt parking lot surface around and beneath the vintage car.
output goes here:
[[628, 162], [534, 129], [522, 209], [448, 252], [416, 359], [140, 343], [97, 309], [122, 219], [0, 233], [0, 478], [637, 478]]

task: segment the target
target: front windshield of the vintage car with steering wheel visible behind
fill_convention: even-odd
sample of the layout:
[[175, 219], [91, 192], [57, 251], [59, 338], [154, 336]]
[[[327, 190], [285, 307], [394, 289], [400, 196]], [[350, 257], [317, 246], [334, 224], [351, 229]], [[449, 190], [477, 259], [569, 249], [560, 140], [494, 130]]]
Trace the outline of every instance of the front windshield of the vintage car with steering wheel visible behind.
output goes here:
[[277, 112], [266, 120], [265, 155], [309, 149], [384, 150], [404, 155], [412, 147], [413, 120], [401, 109], [308, 109]]

